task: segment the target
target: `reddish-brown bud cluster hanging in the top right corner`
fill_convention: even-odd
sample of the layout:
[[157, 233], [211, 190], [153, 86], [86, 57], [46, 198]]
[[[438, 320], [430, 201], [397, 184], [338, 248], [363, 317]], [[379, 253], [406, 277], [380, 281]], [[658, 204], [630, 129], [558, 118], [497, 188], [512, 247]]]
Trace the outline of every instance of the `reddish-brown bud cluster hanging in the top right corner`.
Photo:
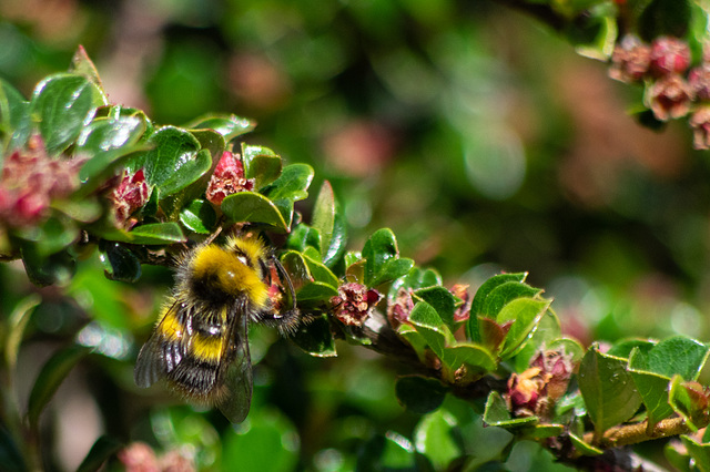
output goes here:
[[[646, 84], [646, 104], [653, 116], [666, 122], [690, 114], [693, 146], [710, 148], [710, 54], [690, 69], [688, 43], [660, 37], [647, 44], [625, 37], [613, 50], [609, 76], [627, 83]], [[689, 70], [690, 69], [690, 70]]]

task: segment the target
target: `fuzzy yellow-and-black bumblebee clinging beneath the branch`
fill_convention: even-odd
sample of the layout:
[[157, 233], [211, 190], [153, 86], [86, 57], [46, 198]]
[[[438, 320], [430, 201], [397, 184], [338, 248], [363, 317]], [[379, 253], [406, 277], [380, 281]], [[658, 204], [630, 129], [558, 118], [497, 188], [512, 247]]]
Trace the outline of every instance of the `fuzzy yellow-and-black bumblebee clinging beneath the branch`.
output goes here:
[[[276, 271], [291, 297], [278, 309], [283, 289], [272, 285]], [[182, 256], [172, 296], [142, 347], [135, 383], [159, 379], [200, 404], [216, 406], [240, 423], [252, 401], [248, 322], [276, 326], [282, 334], [298, 324], [288, 275], [261, 239], [230, 237], [226, 244], [202, 244]]]

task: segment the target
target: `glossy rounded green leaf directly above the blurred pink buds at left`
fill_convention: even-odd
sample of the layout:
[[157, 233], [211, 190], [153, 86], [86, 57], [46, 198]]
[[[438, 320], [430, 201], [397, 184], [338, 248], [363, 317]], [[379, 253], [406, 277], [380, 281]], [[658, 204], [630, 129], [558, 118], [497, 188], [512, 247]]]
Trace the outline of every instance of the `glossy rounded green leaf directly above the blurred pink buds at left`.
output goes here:
[[97, 106], [104, 104], [97, 86], [82, 75], [62, 73], [41, 81], [30, 106], [47, 152], [59, 154], [69, 147], [89, 124]]

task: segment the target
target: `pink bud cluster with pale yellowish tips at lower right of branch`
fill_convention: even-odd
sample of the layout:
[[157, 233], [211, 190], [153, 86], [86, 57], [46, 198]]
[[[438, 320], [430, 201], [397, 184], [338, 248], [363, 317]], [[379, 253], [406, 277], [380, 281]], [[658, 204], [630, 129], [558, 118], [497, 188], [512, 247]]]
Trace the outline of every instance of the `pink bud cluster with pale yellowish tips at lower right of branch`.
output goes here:
[[508, 379], [506, 399], [516, 417], [547, 418], [552, 406], [567, 391], [574, 365], [570, 355], [540, 350], [523, 373]]

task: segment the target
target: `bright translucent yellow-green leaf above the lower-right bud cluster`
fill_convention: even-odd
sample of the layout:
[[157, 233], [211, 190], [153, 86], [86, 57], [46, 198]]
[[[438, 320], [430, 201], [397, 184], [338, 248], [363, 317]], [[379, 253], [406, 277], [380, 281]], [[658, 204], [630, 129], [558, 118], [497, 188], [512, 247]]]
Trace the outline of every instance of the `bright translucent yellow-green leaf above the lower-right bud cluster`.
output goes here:
[[504, 340], [500, 358], [515, 356], [539, 325], [551, 300], [537, 298], [516, 298], [498, 312], [498, 324], [514, 321]]

